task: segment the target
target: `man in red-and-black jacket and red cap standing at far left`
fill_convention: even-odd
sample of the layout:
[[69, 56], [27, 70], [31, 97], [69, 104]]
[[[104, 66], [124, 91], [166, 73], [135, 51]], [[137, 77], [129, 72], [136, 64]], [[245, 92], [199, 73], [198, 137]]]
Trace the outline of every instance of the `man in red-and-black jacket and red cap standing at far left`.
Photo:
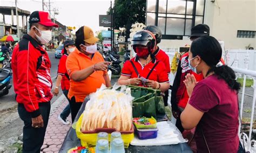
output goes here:
[[52, 99], [51, 62], [43, 44], [51, 40], [48, 12], [35, 11], [29, 18], [30, 31], [14, 48], [12, 71], [18, 114], [24, 122], [23, 152], [40, 152]]

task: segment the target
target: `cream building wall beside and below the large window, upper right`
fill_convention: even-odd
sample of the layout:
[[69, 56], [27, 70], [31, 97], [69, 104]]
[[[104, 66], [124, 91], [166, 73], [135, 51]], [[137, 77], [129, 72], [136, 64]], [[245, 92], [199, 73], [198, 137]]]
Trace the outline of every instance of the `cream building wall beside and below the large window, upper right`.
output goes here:
[[[210, 36], [225, 42], [227, 49], [256, 48], [256, 38], [237, 38], [238, 30], [256, 31], [256, 0], [206, 0], [204, 23], [210, 27]], [[183, 40], [161, 40], [160, 47], [181, 47], [191, 44]]]

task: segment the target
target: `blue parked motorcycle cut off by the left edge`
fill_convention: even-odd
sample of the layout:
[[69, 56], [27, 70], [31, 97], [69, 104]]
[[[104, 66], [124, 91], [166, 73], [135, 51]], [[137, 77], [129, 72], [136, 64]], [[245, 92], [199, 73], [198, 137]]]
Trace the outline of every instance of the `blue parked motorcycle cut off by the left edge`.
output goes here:
[[10, 68], [0, 68], [0, 96], [4, 96], [9, 93], [11, 88], [12, 71]]

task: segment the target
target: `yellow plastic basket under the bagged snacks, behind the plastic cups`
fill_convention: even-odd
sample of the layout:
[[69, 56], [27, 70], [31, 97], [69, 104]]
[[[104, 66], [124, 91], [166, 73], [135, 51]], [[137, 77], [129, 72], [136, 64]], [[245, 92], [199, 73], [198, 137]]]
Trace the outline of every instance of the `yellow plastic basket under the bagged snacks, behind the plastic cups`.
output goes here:
[[[81, 124], [82, 124], [82, 119], [83, 119], [83, 115], [82, 114], [77, 123], [76, 123], [76, 133], [77, 133], [77, 137], [80, 138], [81, 144], [83, 147], [92, 147], [96, 145], [96, 141], [97, 141], [97, 136], [98, 134], [83, 134], [81, 132]], [[133, 140], [134, 138], [134, 134], [122, 134], [122, 139], [124, 141], [124, 148], [128, 148], [130, 142]], [[109, 141], [111, 138], [111, 134], [109, 134]]]

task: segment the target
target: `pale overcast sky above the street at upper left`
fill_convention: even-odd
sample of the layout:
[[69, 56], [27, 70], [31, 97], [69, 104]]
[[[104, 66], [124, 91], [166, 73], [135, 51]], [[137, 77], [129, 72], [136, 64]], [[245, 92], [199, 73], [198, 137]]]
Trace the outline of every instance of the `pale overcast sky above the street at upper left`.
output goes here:
[[[43, 10], [42, 0], [17, 1], [17, 6], [19, 9], [28, 10], [30, 11], [30, 13], [37, 10]], [[106, 11], [110, 8], [110, 0], [50, 1], [52, 2], [51, 10], [53, 10], [53, 8], [56, 8], [59, 12], [59, 15], [55, 15], [55, 18], [63, 25], [72, 27], [76, 26], [77, 29], [80, 26], [86, 25], [91, 27], [94, 32], [106, 29], [105, 27], [99, 26], [99, 15], [106, 14]], [[44, 0], [44, 2], [48, 3], [49, 0]], [[113, 3], [114, 0], [112, 1], [112, 5]], [[15, 0], [0, 0], [0, 6], [15, 6]], [[47, 10], [46, 7], [44, 7], [44, 9]], [[2, 16], [0, 17], [0, 21], [2, 21]], [[11, 24], [11, 16], [5, 16], [5, 22]], [[21, 18], [19, 19], [19, 25], [22, 25]]]

